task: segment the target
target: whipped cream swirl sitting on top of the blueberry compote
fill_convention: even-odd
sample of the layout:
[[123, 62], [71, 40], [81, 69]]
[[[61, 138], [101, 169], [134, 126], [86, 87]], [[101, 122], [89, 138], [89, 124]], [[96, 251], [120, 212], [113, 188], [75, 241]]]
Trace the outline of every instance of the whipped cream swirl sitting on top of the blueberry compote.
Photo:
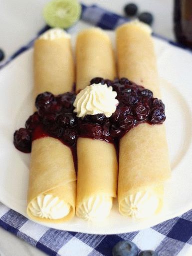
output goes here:
[[110, 117], [116, 110], [119, 101], [117, 92], [107, 84], [91, 84], [81, 90], [73, 103], [77, 117], [85, 115], [105, 114]]

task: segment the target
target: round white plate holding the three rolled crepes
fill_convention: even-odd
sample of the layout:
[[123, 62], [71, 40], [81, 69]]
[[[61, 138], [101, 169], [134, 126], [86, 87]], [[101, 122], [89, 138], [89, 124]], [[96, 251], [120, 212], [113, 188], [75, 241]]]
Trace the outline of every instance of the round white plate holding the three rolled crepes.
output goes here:
[[[114, 42], [114, 32], [108, 32]], [[166, 105], [166, 129], [172, 178], [165, 186], [165, 207], [149, 220], [121, 216], [117, 202], [103, 223], [73, 218], [48, 227], [90, 234], [117, 234], [151, 227], [192, 209], [192, 54], [154, 38], [161, 77], [162, 99]], [[72, 36], [74, 46], [75, 35]], [[0, 201], [26, 215], [30, 154], [13, 146], [13, 132], [24, 126], [32, 113], [32, 53], [30, 49], [0, 71]]]

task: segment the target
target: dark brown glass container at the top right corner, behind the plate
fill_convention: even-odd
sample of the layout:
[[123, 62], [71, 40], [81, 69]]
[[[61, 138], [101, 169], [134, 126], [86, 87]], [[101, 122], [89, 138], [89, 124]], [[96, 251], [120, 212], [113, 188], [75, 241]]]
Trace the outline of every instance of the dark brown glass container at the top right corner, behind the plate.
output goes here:
[[192, 48], [192, 0], [175, 0], [174, 31], [178, 42]]

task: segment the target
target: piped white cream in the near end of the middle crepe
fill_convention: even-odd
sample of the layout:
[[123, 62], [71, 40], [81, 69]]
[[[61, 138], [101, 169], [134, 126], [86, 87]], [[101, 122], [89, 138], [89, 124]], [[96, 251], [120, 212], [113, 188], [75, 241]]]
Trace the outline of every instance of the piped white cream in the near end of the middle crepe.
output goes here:
[[112, 197], [90, 197], [78, 207], [77, 216], [84, 220], [99, 222], [110, 214], [112, 206]]

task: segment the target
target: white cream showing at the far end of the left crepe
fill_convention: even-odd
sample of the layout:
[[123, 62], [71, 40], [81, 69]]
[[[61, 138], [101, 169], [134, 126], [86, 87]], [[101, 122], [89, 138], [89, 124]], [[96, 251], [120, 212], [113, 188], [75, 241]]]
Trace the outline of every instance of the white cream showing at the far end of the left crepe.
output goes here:
[[61, 28], [51, 28], [39, 36], [38, 39], [54, 40], [59, 38], [70, 38], [70, 35]]

